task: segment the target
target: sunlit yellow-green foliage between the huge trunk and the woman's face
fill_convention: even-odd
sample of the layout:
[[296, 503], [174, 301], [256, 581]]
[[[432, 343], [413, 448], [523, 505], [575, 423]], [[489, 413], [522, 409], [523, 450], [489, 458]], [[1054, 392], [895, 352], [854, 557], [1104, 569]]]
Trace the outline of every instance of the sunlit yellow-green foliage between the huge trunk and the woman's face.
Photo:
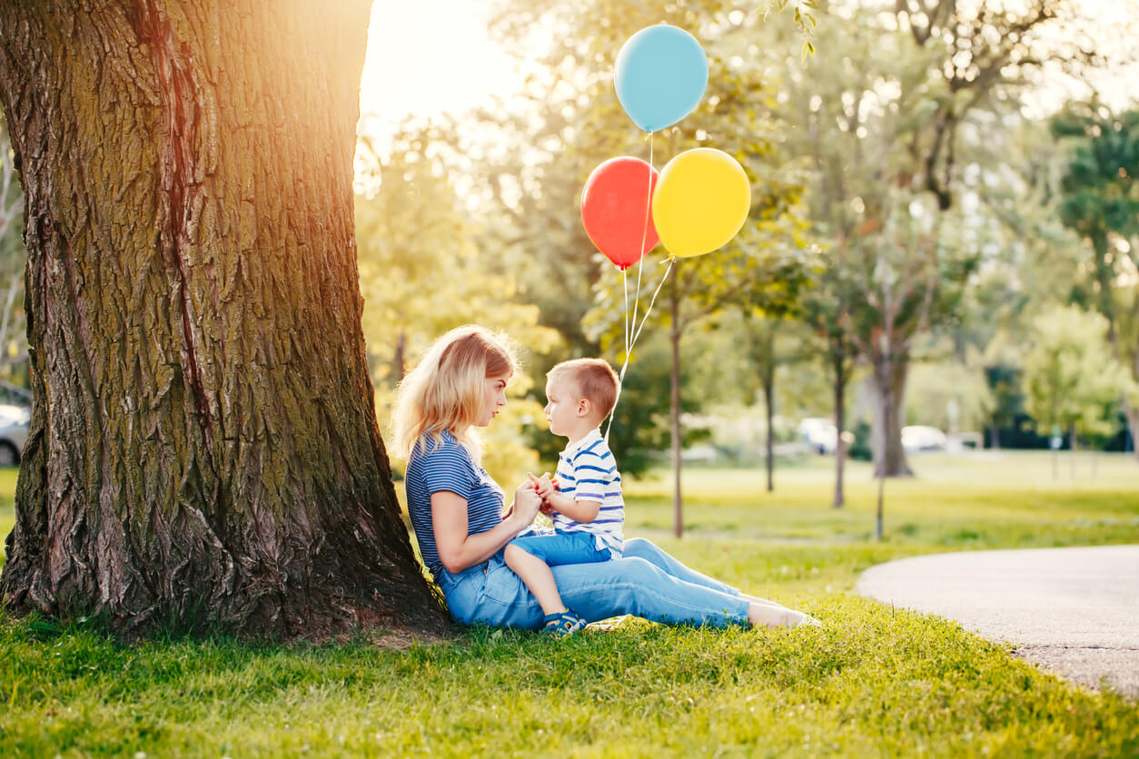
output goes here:
[[[442, 125], [405, 124], [386, 155], [367, 141], [360, 149], [368, 167], [357, 197], [362, 321], [380, 424], [405, 368], [453, 327], [508, 331], [528, 362], [559, 343], [538, 324], [538, 307], [516, 299], [515, 273], [476, 245], [480, 225], [453, 184], [451, 141]], [[536, 468], [524, 430], [544, 423], [542, 404], [527, 399], [534, 391], [528, 374], [509, 391], [516, 399], [485, 440], [484, 465], [503, 486]]]

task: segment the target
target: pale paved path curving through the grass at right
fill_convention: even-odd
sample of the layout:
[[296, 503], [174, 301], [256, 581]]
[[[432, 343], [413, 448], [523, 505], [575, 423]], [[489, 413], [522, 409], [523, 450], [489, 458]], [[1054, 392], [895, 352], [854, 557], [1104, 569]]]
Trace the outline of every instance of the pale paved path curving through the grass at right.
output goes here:
[[854, 592], [953, 619], [1068, 679], [1139, 696], [1139, 545], [968, 551], [862, 572]]

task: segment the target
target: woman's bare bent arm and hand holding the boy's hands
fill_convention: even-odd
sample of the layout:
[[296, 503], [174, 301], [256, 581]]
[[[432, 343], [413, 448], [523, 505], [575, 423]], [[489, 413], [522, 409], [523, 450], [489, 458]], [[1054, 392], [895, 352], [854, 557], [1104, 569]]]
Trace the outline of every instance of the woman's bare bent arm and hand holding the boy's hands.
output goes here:
[[493, 556], [534, 521], [542, 500], [533, 486], [521, 486], [514, 494], [509, 515], [497, 527], [468, 535], [467, 500], [451, 490], [439, 490], [431, 496], [432, 526], [435, 530], [435, 550], [443, 568], [451, 574], [482, 563]]

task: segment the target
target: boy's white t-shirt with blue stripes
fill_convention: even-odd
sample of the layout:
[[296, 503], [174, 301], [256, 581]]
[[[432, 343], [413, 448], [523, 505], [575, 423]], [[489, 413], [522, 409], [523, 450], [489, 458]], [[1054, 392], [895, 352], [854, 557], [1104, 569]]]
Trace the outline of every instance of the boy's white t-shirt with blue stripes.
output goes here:
[[613, 452], [601, 437], [601, 430], [595, 429], [558, 454], [557, 478], [558, 493], [572, 496], [574, 501], [597, 501], [601, 508], [597, 519], [585, 523], [554, 512], [554, 528], [559, 533], [592, 533], [606, 547], [621, 555], [625, 545], [621, 472]]

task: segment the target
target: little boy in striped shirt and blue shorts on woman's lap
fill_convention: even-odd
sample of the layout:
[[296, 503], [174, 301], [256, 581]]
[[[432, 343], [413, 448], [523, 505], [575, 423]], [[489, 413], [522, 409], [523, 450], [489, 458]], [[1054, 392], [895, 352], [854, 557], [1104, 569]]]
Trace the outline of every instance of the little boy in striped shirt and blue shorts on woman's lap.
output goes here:
[[587, 621], [567, 609], [550, 567], [607, 561], [621, 556], [625, 505], [621, 473], [600, 424], [617, 399], [617, 376], [599, 358], [576, 358], [547, 373], [546, 418], [550, 431], [568, 438], [555, 479], [531, 475], [555, 533], [524, 535], [506, 546], [506, 563], [542, 607], [543, 632], [572, 635]]

